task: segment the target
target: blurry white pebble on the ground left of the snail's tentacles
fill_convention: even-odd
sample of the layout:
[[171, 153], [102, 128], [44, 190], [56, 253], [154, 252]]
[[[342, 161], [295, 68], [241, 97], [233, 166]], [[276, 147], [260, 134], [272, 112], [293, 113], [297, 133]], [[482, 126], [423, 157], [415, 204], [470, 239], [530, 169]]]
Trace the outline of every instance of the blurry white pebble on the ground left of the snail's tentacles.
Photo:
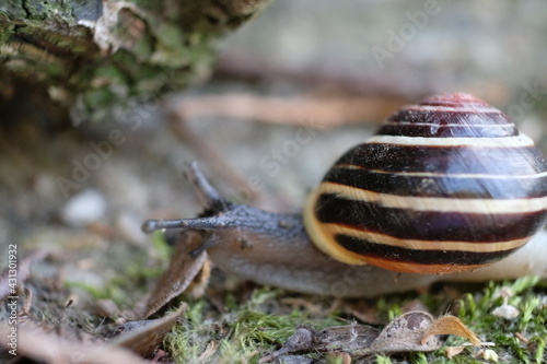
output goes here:
[[70, 226], [82, 226], [101, 220], [106, 210], [104, 196], [86, 189], [72, 197], [60, 211], [61, 220]]

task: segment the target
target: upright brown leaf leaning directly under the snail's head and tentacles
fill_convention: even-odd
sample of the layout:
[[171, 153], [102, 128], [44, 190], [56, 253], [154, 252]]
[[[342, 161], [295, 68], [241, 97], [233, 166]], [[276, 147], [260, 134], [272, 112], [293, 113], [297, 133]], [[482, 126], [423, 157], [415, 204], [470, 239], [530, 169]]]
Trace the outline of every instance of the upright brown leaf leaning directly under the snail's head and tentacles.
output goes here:
[[170, 266], [158, 281], [142, 318], [156, 313], [190, 285], [207, 259], [205, 250], [200, 251], [196, 257], [190, 256], [190, 253], [202, 244], [202, 238], [198, 233], [187, 232], [181, 236]]

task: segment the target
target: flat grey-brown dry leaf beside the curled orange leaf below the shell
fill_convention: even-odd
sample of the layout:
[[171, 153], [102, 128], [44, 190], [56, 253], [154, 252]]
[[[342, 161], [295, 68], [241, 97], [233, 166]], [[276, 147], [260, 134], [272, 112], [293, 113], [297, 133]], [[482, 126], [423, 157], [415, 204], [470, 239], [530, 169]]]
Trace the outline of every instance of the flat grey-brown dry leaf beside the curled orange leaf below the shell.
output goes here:
[[372, 343], [350, 352], [360, 357], [374, 353], [392, 354], [401, 352], [427, 352], [441, 348], [441, 341], [434, 336], [423, 339], [431, 328], [433, 316], [426, 312], [410, 312], [396, 317], [380, 332]]

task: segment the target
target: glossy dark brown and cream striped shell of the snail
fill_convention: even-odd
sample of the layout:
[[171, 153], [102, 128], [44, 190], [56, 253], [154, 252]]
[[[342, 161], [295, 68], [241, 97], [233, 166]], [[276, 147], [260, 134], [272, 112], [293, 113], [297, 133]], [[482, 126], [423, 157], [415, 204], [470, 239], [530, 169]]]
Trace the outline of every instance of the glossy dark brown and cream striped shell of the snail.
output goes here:
[[392, 115], [330, 168], [304, 224], [333, 258], [445, 273], [497, 261], [547, 220], [547, 172], [532, 140], [468, 94]]

